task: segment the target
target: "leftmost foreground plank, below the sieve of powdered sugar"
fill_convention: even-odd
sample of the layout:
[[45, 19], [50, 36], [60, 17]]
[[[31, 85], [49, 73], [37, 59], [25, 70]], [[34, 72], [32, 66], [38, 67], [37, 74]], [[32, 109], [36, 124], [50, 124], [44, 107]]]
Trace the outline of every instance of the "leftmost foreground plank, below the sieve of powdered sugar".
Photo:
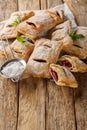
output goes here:
[[0, 77], [0, 130], [16, 130], [17, 84]]

